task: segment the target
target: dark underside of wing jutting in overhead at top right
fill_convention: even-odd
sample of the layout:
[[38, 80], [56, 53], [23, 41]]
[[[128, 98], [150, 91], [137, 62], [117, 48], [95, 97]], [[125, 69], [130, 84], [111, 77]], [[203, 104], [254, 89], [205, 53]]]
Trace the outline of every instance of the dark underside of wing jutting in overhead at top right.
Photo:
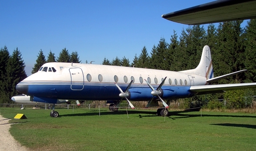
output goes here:
[[216, 0], [163, 14], [163, 18], [187, 25], [200, 25], [256, 18], [256, 0]]

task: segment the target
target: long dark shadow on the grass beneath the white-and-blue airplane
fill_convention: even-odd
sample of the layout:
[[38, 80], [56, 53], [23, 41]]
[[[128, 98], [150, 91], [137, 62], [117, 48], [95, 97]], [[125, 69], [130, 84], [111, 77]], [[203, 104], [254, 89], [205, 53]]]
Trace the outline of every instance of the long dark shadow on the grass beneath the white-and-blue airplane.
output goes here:
[[[169, 118], [175, 120], [179, 118], [193, 118], [193, 117], [200, 117], [201, 114], [198, 112], [198, 114], [185, 114], [187, 112], [195, 112], [195, 110], [183, 110], [183, 111], [169, 111]], [[118, 112], [111, 112], [109, 110], [103, 110], [100, 112], [100, 115], [123, 115], [127, 114], [126, 110], [119, 110]], [[128, 110], [128, 114], [138, 114], [139, 118], [143, 117], [154, 117], [157, 116], [157, 113], [155, 110]], [[147, 115], [145, 115], [147, 114]], [[73, 113], [73, 114], [63, 114], [61, 116], [95, 116], [99, 115], [99, 110], [87, 110], [86, 113]], [[172, 117], [173, 115], [179, 116], [179, 117]], [[207, 117], [235, 117], [235, 118], [256, 118], [256, 115], [212, 115], [212, 114], [202, 114], [202, 116]]]

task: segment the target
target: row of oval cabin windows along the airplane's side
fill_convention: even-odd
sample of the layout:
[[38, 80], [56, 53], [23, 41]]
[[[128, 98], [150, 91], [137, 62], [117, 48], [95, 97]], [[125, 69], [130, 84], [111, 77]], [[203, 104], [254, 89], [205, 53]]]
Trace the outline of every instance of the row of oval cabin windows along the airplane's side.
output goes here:
[[[88, 80], [89, 82], [91, 81], [91, 75], [90, 75], [90, 74], [87, 74], [86, 78], [87, 78], [87, 80]], [[100, 82], [102, 82], [102, 81], [103, 81], [103, 77], [102, 77], [102, 75], [101, 75], [101, 74], [99, 74], [99, 75], [98, 75], [98, 79], [99, 79], [99, 81], [100, 81]], [[161, 81], [163, 81], [163, 79], [164, 79], [164, 78], [162, 78], [162, 80], [161, 80]], [[116, 83], [118, 82], [118, 77], [117, 77], [117, 75], [115, 75], [115, 76], [114, 76], [114, 80], [115, 80], [115, 82], [116, 82]], [[126, 76], [126, 75], [123, 77], [123, 80], [125, 81], [125, 83], [127, 83], [127, 82], [128, 82], [128, 78], [127, 78], [127, 76]], [[131, 80], [133, 80], [133, 83], [135, 82], [135, 79], [134, 79], [134, 77], [133, 77], [133, 76], [131, 76]], [[143, 78], [142, 78], [142, 77], [139, 77], [139, 81], [140, 81], [140, 83], [143, 83]], [[149, 83], [151, 83], [151, 79], [150, 79], [150, 77], [148, 77], [148, 78], [147, 78], [147, 81], [148, 81]], [[157, 83], [158, 83], [158, 80], [157, 80], [157, 78], [156, 78], [156, 77], [155, 77], [154, 81], [155, 81], [155, 84], [157, 84]], [[174, 82], [175, 82], [175, 85], [177, 85], [177, 84], [178, 84], [177, 79], [175, 79], [175, 80], [174, 80]], [[184, 83], [185, 83], [185, 85], [187, 85], [187, 84], [188, 84], [188, 82], [187, 82], [187, 80], [186, 80], [186, 79], [185, 79]], [[169, 84], [170, 84], [170, 85], [172, 85], [172, 80], [171, 80], [171, 79], [169, 79]], [[183, 84], [182, 79], [180, 79], [180, 84], [181, 84], [181, 85]]]

